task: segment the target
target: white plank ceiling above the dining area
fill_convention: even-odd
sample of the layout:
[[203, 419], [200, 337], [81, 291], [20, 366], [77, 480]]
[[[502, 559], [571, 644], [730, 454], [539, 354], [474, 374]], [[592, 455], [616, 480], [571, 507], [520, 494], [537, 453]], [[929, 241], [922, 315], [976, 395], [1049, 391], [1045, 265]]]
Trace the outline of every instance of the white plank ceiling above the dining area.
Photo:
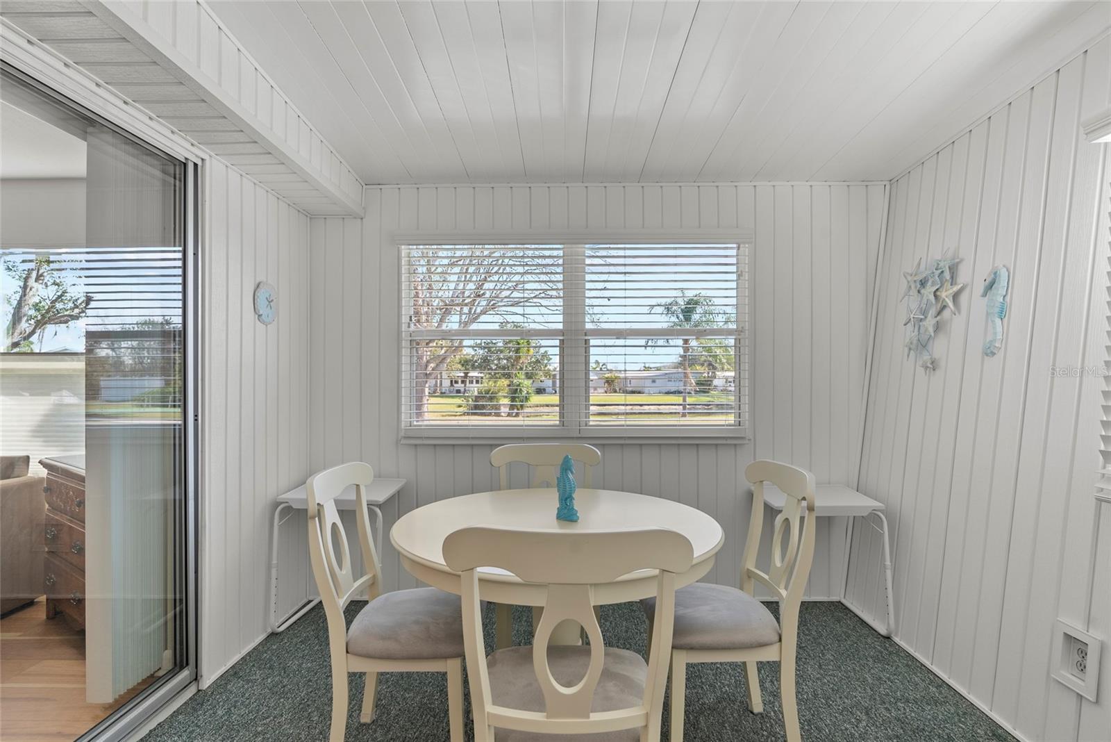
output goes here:
[[211, 3], [367, 183], [889, 179], [1105, 2]]

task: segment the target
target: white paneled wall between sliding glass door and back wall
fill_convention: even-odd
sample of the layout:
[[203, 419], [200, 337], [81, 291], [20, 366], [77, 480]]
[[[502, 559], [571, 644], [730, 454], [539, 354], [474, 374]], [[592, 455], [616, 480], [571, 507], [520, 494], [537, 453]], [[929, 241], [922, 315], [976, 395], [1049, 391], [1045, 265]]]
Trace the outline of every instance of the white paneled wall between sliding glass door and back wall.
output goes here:
[[[269, 631], [274, 498], [309, 474], [309, 218], [218, 159], [206, 168], [202, 285], [201, 682]], [[258, 281], [278, 319], [254, 318]], [[303, 513], [281, 534], [279, 611], [306, 596]]]

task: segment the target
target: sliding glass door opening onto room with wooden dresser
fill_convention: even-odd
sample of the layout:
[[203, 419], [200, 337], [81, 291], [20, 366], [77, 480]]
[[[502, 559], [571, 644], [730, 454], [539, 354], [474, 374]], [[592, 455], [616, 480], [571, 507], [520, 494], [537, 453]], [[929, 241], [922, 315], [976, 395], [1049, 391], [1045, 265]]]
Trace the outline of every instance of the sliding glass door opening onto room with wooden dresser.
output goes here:
[[7, 68], [0, 150], [0, 738], [77, 739], [191, 670], [196, 166]]

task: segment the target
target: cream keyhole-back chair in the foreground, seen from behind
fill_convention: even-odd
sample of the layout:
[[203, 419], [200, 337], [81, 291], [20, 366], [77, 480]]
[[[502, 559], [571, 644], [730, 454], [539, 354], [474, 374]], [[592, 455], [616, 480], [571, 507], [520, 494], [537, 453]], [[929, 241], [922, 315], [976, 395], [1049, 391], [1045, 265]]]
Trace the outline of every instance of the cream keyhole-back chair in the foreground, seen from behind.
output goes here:
[[[553, 532], [477, 527], [449, 534], [443, 556], [461, 575], [476, 742], [659, 739], [675, 573], [685, 572], [693, 560], [685, 537], [665, 529]], [[481, 566], [548, 585], [532, 646], [499, 649], [487, 656], [477, 574]], [[642, 569], [658, 570], [655, 631], [647, 662], [635, 652], [605, 648], [591, 600], [592, 585]], [[590, 644], [550, 644], [564, 620], [579, 623]]]

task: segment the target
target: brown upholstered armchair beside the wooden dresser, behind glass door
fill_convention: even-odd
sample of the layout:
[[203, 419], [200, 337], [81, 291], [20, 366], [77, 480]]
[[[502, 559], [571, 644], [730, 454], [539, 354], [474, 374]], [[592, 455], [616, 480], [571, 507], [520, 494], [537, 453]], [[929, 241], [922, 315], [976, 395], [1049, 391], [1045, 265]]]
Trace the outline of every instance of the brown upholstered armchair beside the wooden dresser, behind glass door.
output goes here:
[[42, 477], [29, 477], [31, 457], [0, 457], [0, 613], [42, 594]]

